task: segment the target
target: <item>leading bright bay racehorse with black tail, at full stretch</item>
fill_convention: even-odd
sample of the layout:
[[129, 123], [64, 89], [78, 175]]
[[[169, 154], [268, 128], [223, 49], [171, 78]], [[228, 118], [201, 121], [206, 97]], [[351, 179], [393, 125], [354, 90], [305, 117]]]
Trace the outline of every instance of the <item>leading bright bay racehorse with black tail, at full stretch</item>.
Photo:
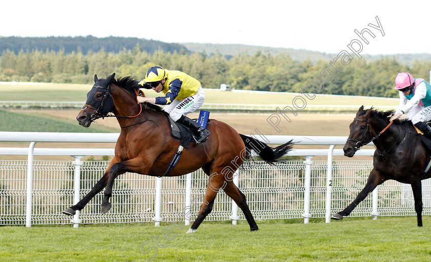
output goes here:
[[[94, 82], [87, 94], [87, 102], [76, 119], [81, 126], [89, 127], [95, 119], [112, 112], [120, 124], [121, 133], [115, 145], [115, 156], [105, 174], [79, 203], [63, 211], [68, 215], [83, 209], [105, 186], [102, 213], [108, 212], [115, 177], [125, 172], [161, 176], [180, 145], [180, 140], [171, 136], [168, 119], [159, 106], [136, 103], [138, 87], [134, 86], [131, 77], [115, 80], [114, 74], [106, 79], [95, 76]], [[178, 164], [167, 175], [180, 176], [202, 168], [209, 176], [204, 203], [188, 233], [196, 231], [211, 212], [215, 195], [221, 188], [242, 209], [250, 230], [258, 230], [245, 195], [233, 184], [233, 172], [251, 149], [259, 151], [259, 156], [267, 163], [274, 164], [291, 149], [292, 142], [271, 148], [252, 137], [238, 134], [215, 119], [210, 119], [206, 128], [211, 132], [206, 142], [198, 145], [190, 143]]]

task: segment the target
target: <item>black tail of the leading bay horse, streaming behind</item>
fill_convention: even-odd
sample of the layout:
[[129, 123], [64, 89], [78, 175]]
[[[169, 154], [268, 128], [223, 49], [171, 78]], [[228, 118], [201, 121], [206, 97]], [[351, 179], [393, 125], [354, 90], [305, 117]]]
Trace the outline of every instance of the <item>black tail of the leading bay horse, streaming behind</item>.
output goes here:
[[272, 148], [265, 143], [254, 139], [253, 137], [246, 136], [243, 134], [240, 134], [240, 136], [243, 139], [245, 148], [247, 149], [246, 156], [250, 154], [251, 150], [254, 150], [269, 165], [275, 165], [276, 162], [282, 162], [283, 160], [279, 160], [279, 158], [292, 150], [292, 146], [293, 144], [295, 144], [292, 142], [292, 139], [281, 146]]

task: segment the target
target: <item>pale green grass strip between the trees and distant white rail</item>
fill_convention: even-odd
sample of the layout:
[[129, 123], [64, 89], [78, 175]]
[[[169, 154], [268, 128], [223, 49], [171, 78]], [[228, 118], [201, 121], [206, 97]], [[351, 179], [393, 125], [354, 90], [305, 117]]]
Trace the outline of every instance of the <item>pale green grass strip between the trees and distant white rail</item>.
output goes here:
[[[64, 101], [82, 102], [87, 99], [87, 93], [92, 85], [80, 84], [53, 84], [53, 83], [19, 83], [12, 86], [9, 83], [0, 83], [0, 100], [5, 101]], [[142, 89], [146, 96], [155, 97], [161, 94], [153, 90]], [[323, 91], [322, 93], [325, 93]], [[300, 93], [284, 92], [228, 92], [205, 89], [205, 103], [227, 104], [266, 104], [290, 105], [295, 97], [302, 96], [309, 105], [367, 105], [398, 106], [397, 98], [382, 97], [354, 97], [345, 95], [316, 95], [310, 97]]]

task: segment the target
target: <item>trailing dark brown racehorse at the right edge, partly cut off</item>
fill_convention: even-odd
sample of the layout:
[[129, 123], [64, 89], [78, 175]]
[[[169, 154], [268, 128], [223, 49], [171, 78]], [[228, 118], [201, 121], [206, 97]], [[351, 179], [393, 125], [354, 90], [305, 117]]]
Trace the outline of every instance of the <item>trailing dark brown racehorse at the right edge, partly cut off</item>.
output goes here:
[[373, 140], [376, 146], [374, 168], [365, 188], [356, 199], [343, 211], [332, 215], [332, 218], [343, 219], [343, 216], [348, 216], [368, 193], [386, 180], [393, 179], [412, 185], [418, 227], [422, 227], [421, 180], [431, 177], [431, 172], [424, 174], [430, 152], [423, 146], [419, 134], [409, 120], [396, 119], [384, 130], [390, 124], [389, 117], [393, 113], [394, 111], [379, 112], [372, 108], [364, 110], [363, 106], [356, 113], [343, 148], [344, 155], [352, 157], [358, 149]]

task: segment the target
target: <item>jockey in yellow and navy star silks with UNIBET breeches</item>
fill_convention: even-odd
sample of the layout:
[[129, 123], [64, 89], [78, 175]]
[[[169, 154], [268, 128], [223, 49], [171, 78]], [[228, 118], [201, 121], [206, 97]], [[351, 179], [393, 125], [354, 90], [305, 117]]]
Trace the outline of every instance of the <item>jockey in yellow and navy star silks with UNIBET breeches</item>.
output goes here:
[[138, 103], [166, 105], [163, 110], [168, 112], [175, 122], [199, 133], [196, 138], [197, 144], [210, 135], [208, 130], [185, 116], [199, 109], [205, 101], [204, 89], [197, 79], [181, 71], [166, 70], [155, 66], [148, 70], [139, 85], [145, 89], [153, 89], [157, 93], [162, 92], [165, 96], [155, 98], [137, 96]]

